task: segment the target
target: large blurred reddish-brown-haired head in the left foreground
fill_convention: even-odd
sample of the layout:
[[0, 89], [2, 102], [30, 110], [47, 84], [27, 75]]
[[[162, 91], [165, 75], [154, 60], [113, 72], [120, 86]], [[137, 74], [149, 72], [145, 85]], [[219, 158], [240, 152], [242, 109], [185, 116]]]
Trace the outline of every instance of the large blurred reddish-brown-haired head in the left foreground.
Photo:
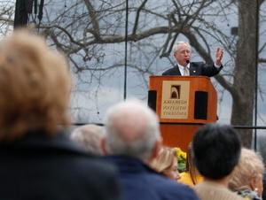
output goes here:
[[0, 42], [0, 140], [68, 124], [71, 81], [66, 59], [43, 38], [17, 30]]

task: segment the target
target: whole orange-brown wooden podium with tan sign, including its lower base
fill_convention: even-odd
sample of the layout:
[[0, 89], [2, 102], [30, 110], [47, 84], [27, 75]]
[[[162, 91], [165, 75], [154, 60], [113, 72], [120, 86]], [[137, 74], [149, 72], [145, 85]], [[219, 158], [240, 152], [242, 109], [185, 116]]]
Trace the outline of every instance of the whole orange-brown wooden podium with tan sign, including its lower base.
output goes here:
[[163, 143], [185, 151], [195, 131], [217, 118], [216, 90], [205, 76], [151, 76], [148, 104], [160, 119]]

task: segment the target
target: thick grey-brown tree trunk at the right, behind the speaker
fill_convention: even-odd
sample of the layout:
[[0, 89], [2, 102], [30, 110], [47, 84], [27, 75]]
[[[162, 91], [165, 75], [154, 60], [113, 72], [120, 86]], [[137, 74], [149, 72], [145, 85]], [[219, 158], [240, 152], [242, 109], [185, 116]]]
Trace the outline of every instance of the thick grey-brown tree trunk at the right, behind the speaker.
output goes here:
[[[256, 1], [239, 1], [239, 41], [234, 72], [231, 124], [252, 126], [256, 66]], [[252, 130], [239, 130], [243, 145], [251, 146]]]

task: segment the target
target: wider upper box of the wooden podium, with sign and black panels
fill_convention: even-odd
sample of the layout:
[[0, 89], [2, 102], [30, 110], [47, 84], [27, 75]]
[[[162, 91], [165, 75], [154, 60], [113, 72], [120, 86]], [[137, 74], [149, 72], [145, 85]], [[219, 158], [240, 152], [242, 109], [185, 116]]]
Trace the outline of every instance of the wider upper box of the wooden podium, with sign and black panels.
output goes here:
[[160, 122], [216, 121], [216, 90], [205, 76], [150, 76], [148, 104]]

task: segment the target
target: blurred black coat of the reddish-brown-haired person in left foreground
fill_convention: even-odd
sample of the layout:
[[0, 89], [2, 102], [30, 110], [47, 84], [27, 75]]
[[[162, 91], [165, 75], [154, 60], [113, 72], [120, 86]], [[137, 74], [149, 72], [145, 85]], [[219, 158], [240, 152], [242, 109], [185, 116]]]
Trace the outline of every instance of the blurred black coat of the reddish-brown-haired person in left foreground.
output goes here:
[[87, 155], [64, 134], [1, 142], [0, 160], [0, 199], [121, 199], [113, 165]]

